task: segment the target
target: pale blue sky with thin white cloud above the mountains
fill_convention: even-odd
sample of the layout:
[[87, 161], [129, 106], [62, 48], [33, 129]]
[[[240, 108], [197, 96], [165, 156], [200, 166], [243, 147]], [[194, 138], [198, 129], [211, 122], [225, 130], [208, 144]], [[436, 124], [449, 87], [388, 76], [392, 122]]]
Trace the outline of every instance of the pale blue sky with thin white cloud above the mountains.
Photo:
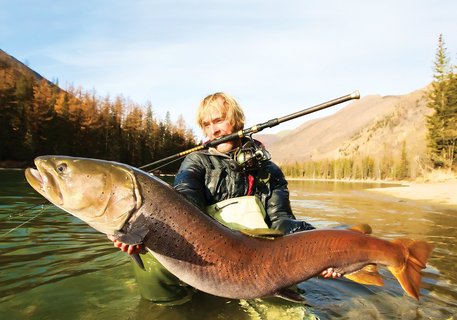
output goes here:
[[199, 135], [195, 110], [218, 91], [252, 126], [354, 90], [421, 89], [440, 34], [455, 64], [456, 14], [455, 0], [0, 0], [0, 49], [63, 88], [182, 115]]

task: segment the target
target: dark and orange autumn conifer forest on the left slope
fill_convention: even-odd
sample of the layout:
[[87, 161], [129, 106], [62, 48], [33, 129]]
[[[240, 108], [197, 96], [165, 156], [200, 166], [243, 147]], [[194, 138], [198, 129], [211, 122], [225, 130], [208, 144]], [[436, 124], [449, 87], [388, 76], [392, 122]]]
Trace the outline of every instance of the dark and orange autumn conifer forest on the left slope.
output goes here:
[[[142, 166], [195, 146], [182, 116], [161, 120], [152, 105], [122, 96], [62, 90], [30, 69], [0, 60], [0, 163], [30, 165], [40, 155], [90, 157]], [[164, 167], [177, 169], [179, 163]]]

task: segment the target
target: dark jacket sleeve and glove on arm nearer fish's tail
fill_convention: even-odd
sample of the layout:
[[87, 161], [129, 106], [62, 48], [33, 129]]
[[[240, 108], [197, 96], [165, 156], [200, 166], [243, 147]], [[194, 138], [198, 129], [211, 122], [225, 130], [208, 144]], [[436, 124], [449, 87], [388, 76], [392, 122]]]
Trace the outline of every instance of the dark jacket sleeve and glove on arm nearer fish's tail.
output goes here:
[[269, 167], [271, 195], [266, 201], [265, 210], [271, 221], [271, 228], [281, 230], [285, 234], [315, 229], [305, 221], [296, 220], [290, 206], [289, 189], [284, 174], [273, 163]]

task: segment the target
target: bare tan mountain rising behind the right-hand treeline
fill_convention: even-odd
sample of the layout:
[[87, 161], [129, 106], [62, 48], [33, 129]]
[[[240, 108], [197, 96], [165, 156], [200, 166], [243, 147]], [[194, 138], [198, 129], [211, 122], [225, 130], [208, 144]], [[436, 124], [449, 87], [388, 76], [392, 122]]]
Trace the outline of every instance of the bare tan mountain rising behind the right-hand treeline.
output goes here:
[[352, 156], [399, 158], [426, 150], [428, 87], [398, 96], [369, 95], [325, 118], [277, 135], [258, 135], [278, 164]]

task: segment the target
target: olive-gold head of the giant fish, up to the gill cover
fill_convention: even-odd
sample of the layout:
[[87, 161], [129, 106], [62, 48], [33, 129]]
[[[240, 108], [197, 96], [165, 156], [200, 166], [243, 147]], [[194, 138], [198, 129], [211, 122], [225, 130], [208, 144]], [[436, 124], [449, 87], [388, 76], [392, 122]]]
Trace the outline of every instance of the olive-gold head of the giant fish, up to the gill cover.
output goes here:
[[67, 156], [38, 157], [35, 165], [25, 177], [38, 193], [105, 234], [120, 230], [141, 207], [141, 190], [127, 165]]

